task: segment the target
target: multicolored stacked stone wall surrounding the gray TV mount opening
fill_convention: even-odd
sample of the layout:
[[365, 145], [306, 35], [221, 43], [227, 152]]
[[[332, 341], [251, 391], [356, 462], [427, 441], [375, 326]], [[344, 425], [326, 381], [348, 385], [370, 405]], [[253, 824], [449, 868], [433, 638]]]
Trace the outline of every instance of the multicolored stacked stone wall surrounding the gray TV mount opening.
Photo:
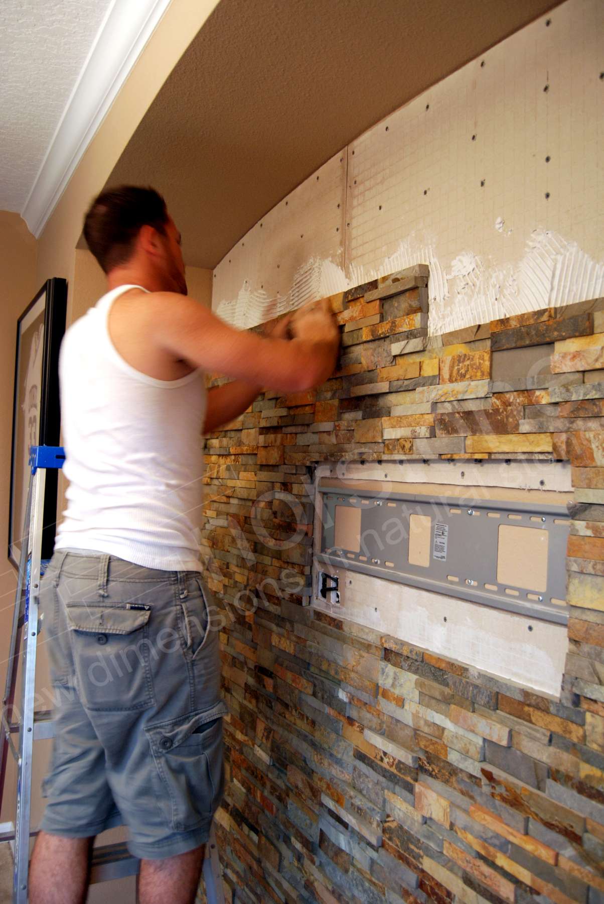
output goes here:
[[[339, 371], [207, 440], [228, 900], [604, 901], [604, 300], [428, 336], [427, 281], [332, 297]], [[311, 466], [434, 457], [570, 460], [559, 699], [304, 605]]]

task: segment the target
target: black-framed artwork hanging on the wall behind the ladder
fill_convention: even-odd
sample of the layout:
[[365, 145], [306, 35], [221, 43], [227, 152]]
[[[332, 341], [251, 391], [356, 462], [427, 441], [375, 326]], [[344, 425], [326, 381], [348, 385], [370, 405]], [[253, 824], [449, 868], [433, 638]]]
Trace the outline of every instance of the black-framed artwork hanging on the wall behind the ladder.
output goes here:
[[[49, 279], [17, 321], [8, 558], [18, 568], [29, 489], [31, 446], [60, 442], [59, 349], [65, 332], [67, 282]], [[50, 559], [57, 520], [58, 471], [46, 475], [42, 559]]]

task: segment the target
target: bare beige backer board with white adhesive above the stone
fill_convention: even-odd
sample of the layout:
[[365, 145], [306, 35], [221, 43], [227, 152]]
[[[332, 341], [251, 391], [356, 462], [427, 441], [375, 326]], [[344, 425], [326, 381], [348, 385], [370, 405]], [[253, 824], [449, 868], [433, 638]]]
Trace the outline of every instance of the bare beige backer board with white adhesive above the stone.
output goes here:
[[604, 5], [568, 0], [547, 19], [336, 155], [339, 208], [324, 168], [277, 204], [215, 268], [218, 314], [253, 325], [417, 263], [430, 267], [431, 334], [604, 294]]

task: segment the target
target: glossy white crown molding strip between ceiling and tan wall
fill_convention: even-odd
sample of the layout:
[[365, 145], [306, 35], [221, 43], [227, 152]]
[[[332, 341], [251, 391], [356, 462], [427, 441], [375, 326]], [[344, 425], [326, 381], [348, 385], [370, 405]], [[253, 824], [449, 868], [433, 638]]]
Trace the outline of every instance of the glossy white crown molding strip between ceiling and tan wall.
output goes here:
[[109, 6], [23, 206], [36, 239], [170, 3], [113, 0]]

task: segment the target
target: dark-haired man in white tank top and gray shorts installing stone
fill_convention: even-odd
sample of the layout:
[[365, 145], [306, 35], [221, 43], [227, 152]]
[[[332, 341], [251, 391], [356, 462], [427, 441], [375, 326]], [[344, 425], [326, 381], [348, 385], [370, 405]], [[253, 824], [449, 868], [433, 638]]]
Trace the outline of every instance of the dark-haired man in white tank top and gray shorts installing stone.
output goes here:
[[[189, 904], [228, 712], [200, 564], [203, 434], [265, 387], [325, 381], [339, 331], [326, 303], [263, 337], [186, 297], [181, 236], [153, 189], [101, 193], [84, 234], [108, 291], [60, 353], [70, 485], [41, 589], [57, 731], [30, 900], [84, 901], [94, 836], [125, 824], [141, 904]], [[206, 372], [235, 379], [206, 391]]]

